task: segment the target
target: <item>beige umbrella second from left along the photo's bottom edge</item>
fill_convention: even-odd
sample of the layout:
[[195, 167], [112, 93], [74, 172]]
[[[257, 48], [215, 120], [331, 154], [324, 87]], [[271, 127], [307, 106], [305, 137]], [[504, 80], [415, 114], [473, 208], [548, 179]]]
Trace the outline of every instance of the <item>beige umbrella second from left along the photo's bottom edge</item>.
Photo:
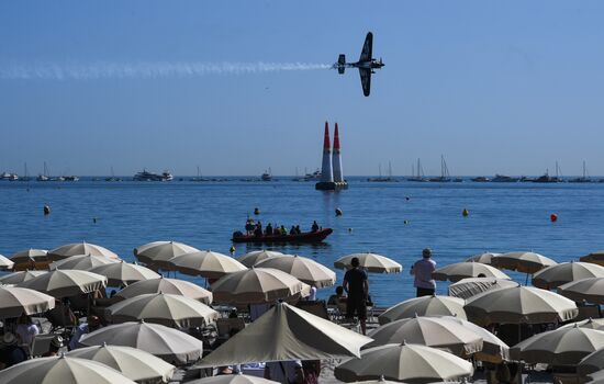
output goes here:
[[92, 360], [119, 371], [135, 382], [167, 383], [175, 373], [175, 366], [153, 354], [132, 347], [92, 346], [75, 349], [69, 358]]

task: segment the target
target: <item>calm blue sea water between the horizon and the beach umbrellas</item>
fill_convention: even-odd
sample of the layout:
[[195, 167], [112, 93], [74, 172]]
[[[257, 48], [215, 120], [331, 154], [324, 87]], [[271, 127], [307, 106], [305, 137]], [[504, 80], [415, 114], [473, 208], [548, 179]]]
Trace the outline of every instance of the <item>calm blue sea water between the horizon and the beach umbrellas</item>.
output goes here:
[[[409, 267], [424, 247], [433, 249], [438, 267], [486, 250], [532, 250], [568, 261], [604, 248], [604, 184], [363, 180], [353, 178], [349, 190], [339, 193], [318, 192], [311, 182], [287, 178], [273, 182], [238, 178], [228, 182], [0, 182], [0, 253], [86, 240], [133, 261], [134, 247], [178, 240], [228, 255], [231, 234], [243, 229], [247, 215], [258, 207], [262, 224], [288, 228], [300, 224], [307, 230], [316, 219], [334, 228], [323, 245], [272, 247], [281, 252], [306, 256], [328, 267], [342, 256], [361, 251], [401, 262], [401, 274], [370, 275], [373, 301], [391, 305], [414, 295]], [[52, 207], [46, 217], [45, 203]], [[336, 207], [344, 211], [343, 216], [335, 216]], [[469, 217], [461, 215], [465, 207]], [[551, 213], [558, 214], [557, 223], [550, 223]], [[236, 256], [259, 249], [236, 247]], [[337, 273], [342, 282], [343, 272]], [[513, 276], [524, 282], [524, 275]], [[447, 285], [438, 282], [437, 291], [445, 294]], [[320, 290], [320, 295], [332, 291]]]

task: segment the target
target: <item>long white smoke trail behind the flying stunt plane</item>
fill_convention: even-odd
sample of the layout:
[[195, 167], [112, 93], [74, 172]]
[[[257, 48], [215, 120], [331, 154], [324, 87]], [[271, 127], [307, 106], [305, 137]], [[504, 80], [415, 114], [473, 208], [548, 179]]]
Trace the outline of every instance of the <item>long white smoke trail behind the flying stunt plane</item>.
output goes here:
[[92, 64], [0, 64], [0, 79], [7, 80], [96, 80], [156, 79], [201, 77], [209, 75], [246, 75], [277, 71], [331, 68], [312, 63], [202, 63], [202, 61], [136, 61]]

